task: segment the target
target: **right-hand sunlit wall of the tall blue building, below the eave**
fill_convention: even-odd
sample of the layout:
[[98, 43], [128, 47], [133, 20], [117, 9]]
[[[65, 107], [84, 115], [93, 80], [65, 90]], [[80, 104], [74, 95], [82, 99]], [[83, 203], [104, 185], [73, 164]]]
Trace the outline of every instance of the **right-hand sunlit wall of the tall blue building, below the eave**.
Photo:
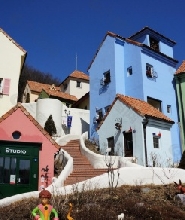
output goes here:
[[[180, 131], [177, 123], [176, 93], [173, 85], [175, 65], [162, 57], [157, 58], [156, 56], [149, 56], [146, 53], [142, 53], [141, 57], [144, 100], [147, 101], [147, 96], [161, 100], [162, 112], [175, 122], [171, 128], [171, 134], [174, 161], [177, 162], [181, 158], [181, 150]], [[146, 77], [146, 63], [153, 66], [157, 74], [155, 80]], [[171, 113], [167, 113], [167, 105], [171, 105]]]

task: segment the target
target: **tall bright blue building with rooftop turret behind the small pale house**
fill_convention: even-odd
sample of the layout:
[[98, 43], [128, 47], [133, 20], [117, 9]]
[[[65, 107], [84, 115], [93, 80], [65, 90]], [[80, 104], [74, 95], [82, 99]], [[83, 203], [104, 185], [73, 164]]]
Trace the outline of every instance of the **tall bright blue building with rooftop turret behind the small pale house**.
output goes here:
[[173, 160], [180, 160], [175, 44], [149, 27], [129, 38], [107, 32], [88, 67], [92, 139], [96, 138], [99, 122], [119, 93], [148, 102], [175, 122], [171, 128]]

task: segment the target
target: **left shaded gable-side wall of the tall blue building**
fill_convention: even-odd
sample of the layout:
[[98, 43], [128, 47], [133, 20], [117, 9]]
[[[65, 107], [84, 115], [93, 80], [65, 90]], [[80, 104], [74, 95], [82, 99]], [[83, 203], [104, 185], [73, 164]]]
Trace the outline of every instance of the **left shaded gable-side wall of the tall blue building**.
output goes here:
[[[89, 69], [90, 75], [90, 137], [96, 138], [96, 127], [94, 118], [96, 117], [96, 108], [99, 110], [110, 105], [116, 95], [115, 86], [115, 39], [107, 36], [100, 47], [94, 62]], [[101, 86], [100, 80], [103, 73], [110, 70], [111, 82], [107, 86]]]

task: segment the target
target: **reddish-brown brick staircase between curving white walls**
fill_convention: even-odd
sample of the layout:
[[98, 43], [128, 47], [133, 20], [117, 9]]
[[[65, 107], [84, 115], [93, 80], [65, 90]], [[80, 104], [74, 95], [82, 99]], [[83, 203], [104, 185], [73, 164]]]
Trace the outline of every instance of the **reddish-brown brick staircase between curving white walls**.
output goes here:
[[107, 173], [107, 169], [95, 169], [88, 159], [80, 152], [79, 140], [71, 140], [62, 149], [67, 151], [73, 157], [73, 172], [65, 180], [64, 185], [72, 185], [103, 173]]

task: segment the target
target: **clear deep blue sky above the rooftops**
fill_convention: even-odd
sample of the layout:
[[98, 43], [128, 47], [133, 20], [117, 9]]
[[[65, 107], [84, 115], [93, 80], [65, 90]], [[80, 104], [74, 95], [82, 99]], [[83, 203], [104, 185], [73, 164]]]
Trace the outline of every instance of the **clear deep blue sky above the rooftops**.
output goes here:
[[0, 27], [27, 51], [26, 63], [63, 81], [87, 73], [107, 31], [129, 37], [145, 26], [176, 41], [185, 59], [184, 0], [0, 0]]

